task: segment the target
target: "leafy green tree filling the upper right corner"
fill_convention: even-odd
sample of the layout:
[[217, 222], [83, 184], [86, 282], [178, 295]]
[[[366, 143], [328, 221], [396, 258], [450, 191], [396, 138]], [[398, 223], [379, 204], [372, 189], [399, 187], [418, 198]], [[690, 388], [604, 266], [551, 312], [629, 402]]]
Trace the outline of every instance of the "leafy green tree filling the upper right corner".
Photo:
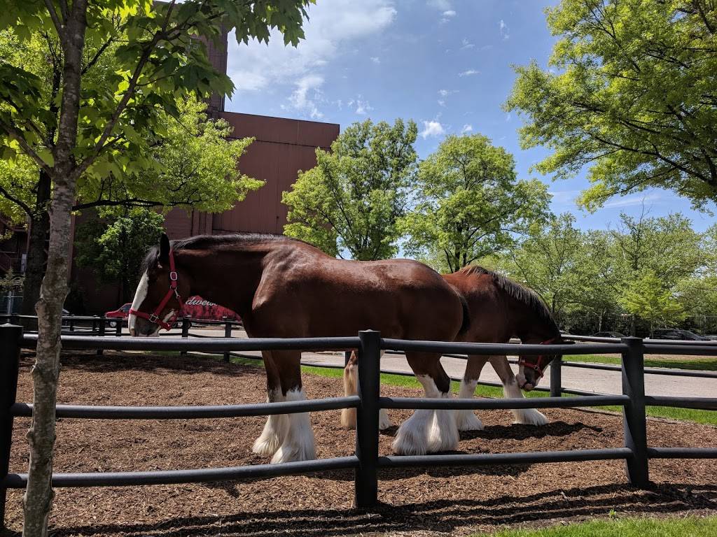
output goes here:
[[505, 103], [527, 119], [536, 168], [566, 178], [589, 166], [581, 203], [660, 187], [703, 208], [717, 200], [717, 9], [712, 0], [562, 0], [549, 69], [517, 67]]

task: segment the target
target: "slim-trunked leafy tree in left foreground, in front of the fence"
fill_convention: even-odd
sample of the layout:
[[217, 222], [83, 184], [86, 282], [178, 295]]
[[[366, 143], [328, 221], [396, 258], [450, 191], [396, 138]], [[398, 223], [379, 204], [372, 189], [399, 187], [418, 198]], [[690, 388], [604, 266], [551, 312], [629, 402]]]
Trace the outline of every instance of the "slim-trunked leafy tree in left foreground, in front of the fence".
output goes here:
[[[30, 63], [0, 62], [0, 158], [27, 155], [47, 177], [51, 193], [47, 269], [36, 305], [24, 536], [47, 535], [52, 505], [61, 316], [78, 181], [158, 168], [151, 147], [166, 130], [162, 114], [176, 117], [176, 103], [189, 94], [207, 98], [232, 90], [229, 78], [209, 63], [201, 39], [234, 31], [239, 42], [267, 41], [274, 28], [285, 43], [297, 44], [309, 3], [9, 0], [0, 10], [0, 32], [14, 34], [20, 47], [44, 35], [53, 47], [51, 84]], [[94, 67], [105, 62], [112, 69], [96, 76]]]

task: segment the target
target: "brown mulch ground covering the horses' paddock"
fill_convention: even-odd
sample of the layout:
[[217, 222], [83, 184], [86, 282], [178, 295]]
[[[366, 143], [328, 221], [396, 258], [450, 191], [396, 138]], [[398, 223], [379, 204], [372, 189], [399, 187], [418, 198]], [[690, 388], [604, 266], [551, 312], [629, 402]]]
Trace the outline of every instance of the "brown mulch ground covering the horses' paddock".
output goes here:
[[[22, 358], [19, 401], [32, 400], [32, 355]], [[309, 397], [341, 395], [339, 379], [305, 375]], [[419, 390], [384, 387], [394, 396]], [[62, 358], [59, 402], [93, 405], [209, 405], [265, 400], [262, 369], [210, 357], [106, 352]], [[507, 411], [481, 412], [485, 430], [461, 433], [462, 453], [571, 450], [622, 445], [622, 417], [548, 409], [546, 427], [511, 425]], [[394, 422], [409, 412], [391, 411]], [[353, 431], [339, 412], [316, 412], [320, 458], [353, 454]], [[70, 420], [57, 423], [55, 470], [171, 470], [267, 463], [251, 452], [264, 418], [222, 420]], [[11, 472], [27, 471], [24, 432], [16, 419]], [[390, 454], [393, 430], [381, 435]], [[711, 447], [717, 428], [649, 420], [652, 446]], [[717, 513], [713, 460], [653, 460], [650, 490], [627, 485], [622, 461], [384, 470], [382, 504], [351, 508], [353, 473], [336, 471], [239, 483], [60, 488], [50, 520], [56, 536], [466, 535], [504, 526], [545, 526], [607, 513]], [[22, 495], [8, 491], [9, 535], [22, 528]]]

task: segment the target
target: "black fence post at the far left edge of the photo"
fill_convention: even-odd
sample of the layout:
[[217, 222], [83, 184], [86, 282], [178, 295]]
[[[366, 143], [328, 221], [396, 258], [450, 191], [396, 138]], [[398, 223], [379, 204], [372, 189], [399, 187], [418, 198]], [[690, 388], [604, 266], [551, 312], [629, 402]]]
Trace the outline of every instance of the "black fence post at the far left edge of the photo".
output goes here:
[[[0, 483], [10, 468], [12, 445], [12, 415], [10, 407], [17, 395], [17, 372], [20, 362], [22, 326], [0, 326]], [[5, 527], [6, 488], [0, 487], [0, 528]]]

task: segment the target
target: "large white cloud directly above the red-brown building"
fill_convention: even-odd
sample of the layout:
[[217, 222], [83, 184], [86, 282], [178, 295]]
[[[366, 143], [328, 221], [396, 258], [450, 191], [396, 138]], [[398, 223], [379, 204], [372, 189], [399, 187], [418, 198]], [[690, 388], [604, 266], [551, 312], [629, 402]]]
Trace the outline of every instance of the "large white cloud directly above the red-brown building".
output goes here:
[[237, 92], [257, 92], [296, 84], [321, 70], [356, 42], [380, 34], [396, 18], [391, 0], [331, 0], [309, 8], [304, 23], [306, 39], [285, 47], [280, 32], [272, 31], [269, 44], [252, 40], [239, 46], [229, 37], [227, 72]]

